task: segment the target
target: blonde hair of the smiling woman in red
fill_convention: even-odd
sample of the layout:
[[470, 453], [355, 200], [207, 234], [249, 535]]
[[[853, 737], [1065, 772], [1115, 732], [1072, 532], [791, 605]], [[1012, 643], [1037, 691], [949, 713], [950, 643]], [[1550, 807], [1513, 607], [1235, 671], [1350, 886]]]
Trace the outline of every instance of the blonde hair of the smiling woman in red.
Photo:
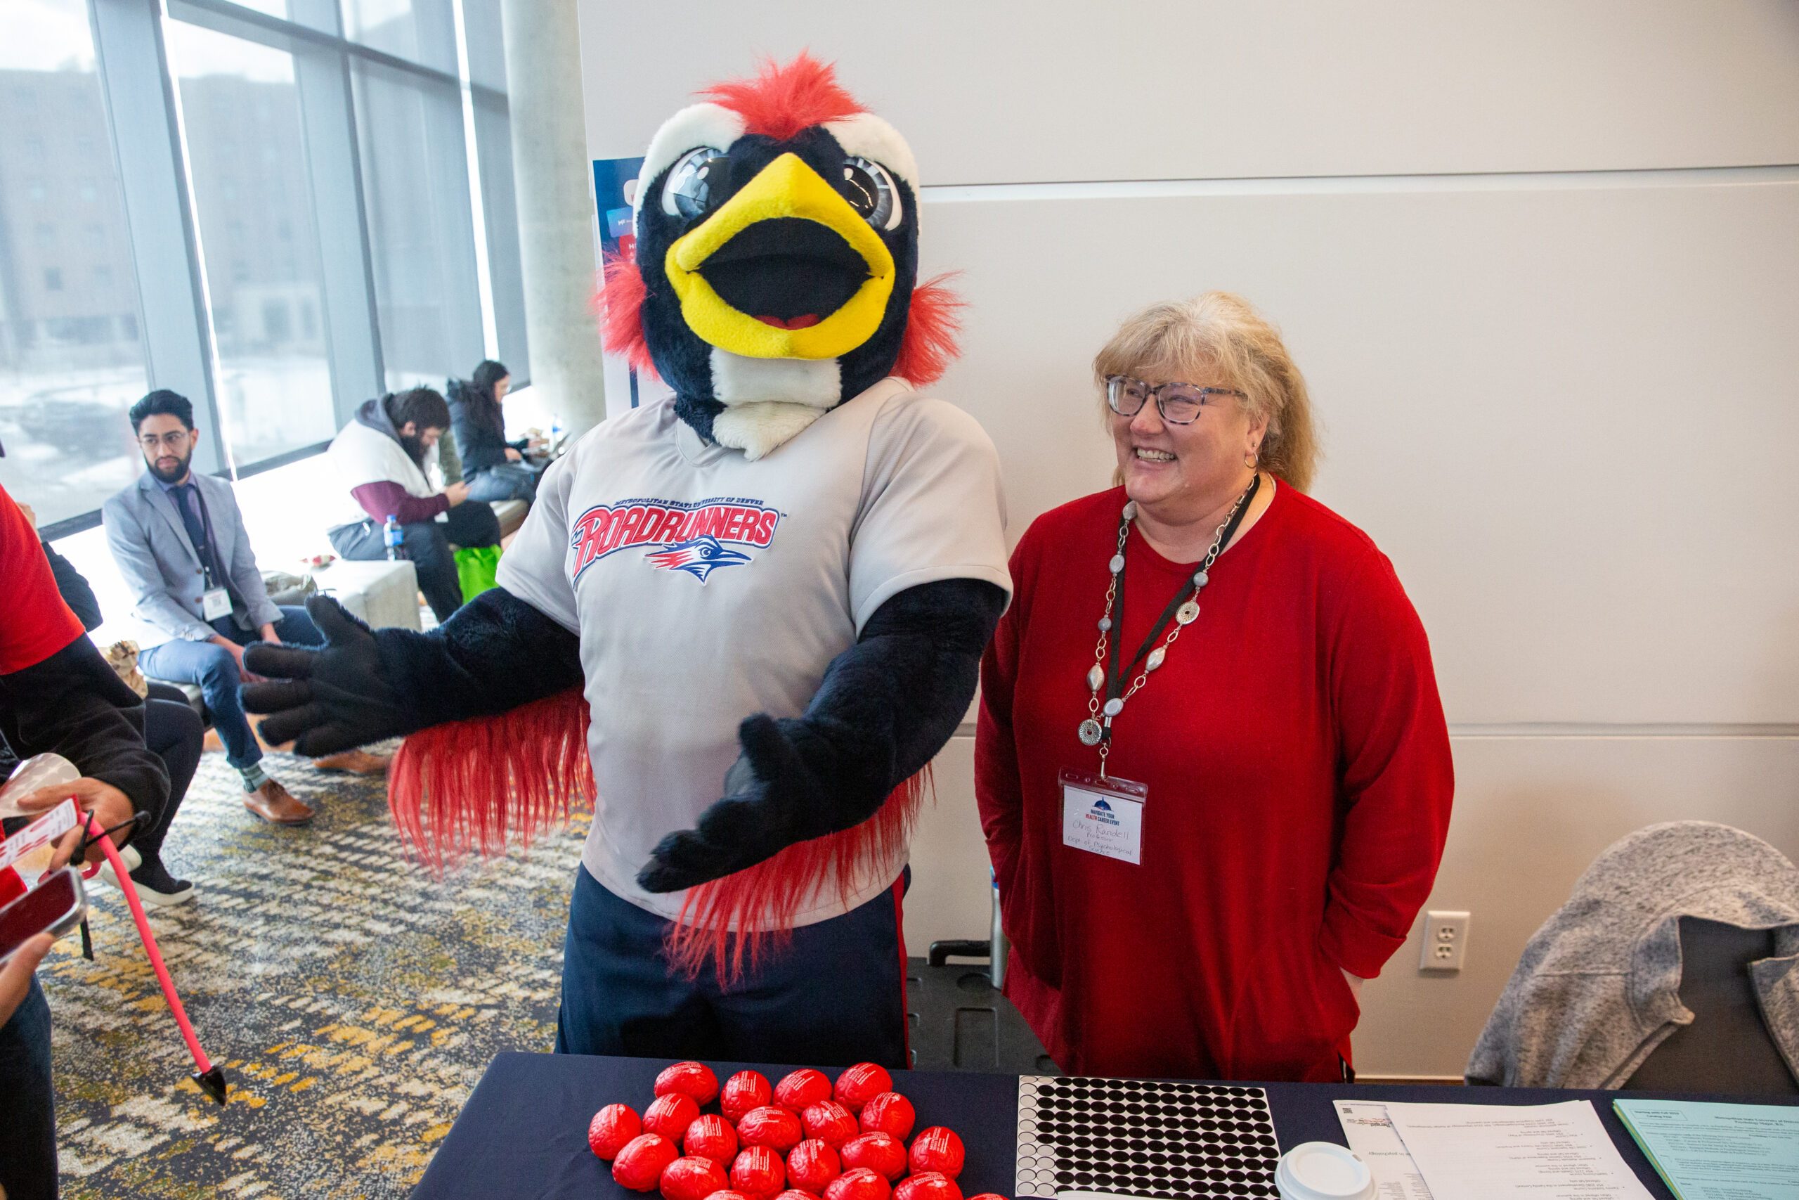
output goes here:
[[[1198, 378], [1200, 372], [1207, 372], [1205, 378]], [[1126, 320], [1094, 356], [1094, 378], [1101, 387], [1112, 374], [1191, 380], [1247, 392], [1243, 407], [1268, 419], [1261, 468], [1299, 491], [1311, 486], [1319, 439], [1306, 378], [1286, 353], [1281, 331], [1243, 297], [1205, 291], [1191, 300], [1151, 304]], [[1103, 398], [1099, 403], [1105, 408]]]

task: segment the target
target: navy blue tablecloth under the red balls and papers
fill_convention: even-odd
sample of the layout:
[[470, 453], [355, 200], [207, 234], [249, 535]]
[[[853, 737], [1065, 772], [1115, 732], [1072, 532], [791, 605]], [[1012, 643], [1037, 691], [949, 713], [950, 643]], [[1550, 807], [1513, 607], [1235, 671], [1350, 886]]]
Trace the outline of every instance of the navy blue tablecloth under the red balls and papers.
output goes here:
[[[488, 1065], [462, 1115], [444, 1137], [414, 1200], [644, 1200], [612, 1182], [608, 1164], [586, 1146], [586, 1123], [601, 1105], [642, 1112], [667, 1061], [579, 1054], [500, 1054]], [[720, 1081], [756, 1067], [779, 1081], [792, 1067], [711, 1063]], [[828, 1072], [835, 1074], [835, 1072]], [[1619, 1092], [1563, 1092], [1499, 1087], [1382, 1087], [1355, 1083], [1266, 1083], [1281, 1150], [1301, 1142], [1344, 1142], [1331, 1101], [1419, 1101], [1459, 1105], [1547, 1105], [1590, 1099], [1624, 1162], [1650, 1189], [1668, 1196], [1642, 1151], [1612, 1112]], [[896, 1070], [894, 1090], [917, 1108], [919, 1126], [946, 1124], [962, 1135], [968, 1164], [962, 1193], [1013, 1195], [1018, 1078], [971, 1072]], [[1628, 1092], [1639, 1099], [1664, 1097]], [[1696, 1099], [1696, 1097], [1678, 1097]], [[1720, 1097], [1711, 1097], [1720, 1099]], [[1756, 1103], [1781, 1103], [1779, 1097]], [[653, 1193], [651, 1193], [653, 1200]]]

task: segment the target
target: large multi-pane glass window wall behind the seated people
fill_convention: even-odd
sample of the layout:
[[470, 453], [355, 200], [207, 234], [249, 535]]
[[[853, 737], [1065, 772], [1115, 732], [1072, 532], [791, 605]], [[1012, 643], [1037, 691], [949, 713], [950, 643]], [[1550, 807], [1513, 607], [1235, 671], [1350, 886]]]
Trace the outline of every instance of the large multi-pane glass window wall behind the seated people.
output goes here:
[[0, 484], [52, 533], [194, 401], [196, 466], [529, 378], [498, 0], [0, 0]]

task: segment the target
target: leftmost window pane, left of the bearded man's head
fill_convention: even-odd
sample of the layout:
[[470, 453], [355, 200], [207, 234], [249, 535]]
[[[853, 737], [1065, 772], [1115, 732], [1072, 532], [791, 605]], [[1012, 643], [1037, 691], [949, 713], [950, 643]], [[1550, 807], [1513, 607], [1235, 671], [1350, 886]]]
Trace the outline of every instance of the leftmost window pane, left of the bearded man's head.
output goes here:
[[0, 482], [43, 524], [139, 470], [137, 275], [85, 0], [0, 4]]

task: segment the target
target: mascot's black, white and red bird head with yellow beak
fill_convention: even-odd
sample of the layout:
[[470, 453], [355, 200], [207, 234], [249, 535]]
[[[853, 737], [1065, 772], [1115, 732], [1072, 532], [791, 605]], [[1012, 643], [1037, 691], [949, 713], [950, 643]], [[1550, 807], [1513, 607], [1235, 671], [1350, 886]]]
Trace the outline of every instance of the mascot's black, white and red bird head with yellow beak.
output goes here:
[[905, 139], [808, 54], [702, 95], [649, 142], [635, 261], [606, 263], [606, 347], [750, 459], [883, 376], [934, 381], [959, 300], [916, 282]]

